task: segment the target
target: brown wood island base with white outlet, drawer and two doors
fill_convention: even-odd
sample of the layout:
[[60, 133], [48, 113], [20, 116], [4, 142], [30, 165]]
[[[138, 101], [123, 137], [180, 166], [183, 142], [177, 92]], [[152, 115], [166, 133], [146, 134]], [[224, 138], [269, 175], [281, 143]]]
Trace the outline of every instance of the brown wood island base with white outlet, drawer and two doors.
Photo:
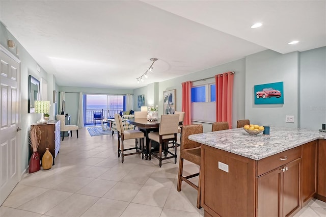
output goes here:
[[301, 146], [261, 160], [206, 145], [201, 150], [205, 216], [288, 216], [301, 209]]

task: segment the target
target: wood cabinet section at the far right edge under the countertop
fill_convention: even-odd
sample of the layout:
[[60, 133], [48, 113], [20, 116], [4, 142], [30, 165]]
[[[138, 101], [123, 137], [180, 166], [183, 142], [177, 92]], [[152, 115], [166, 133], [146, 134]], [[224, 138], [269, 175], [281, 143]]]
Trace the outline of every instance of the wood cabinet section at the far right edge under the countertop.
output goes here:
[[326, 140], [318, 141], [318, 172], [316, 198], [326, 202]]

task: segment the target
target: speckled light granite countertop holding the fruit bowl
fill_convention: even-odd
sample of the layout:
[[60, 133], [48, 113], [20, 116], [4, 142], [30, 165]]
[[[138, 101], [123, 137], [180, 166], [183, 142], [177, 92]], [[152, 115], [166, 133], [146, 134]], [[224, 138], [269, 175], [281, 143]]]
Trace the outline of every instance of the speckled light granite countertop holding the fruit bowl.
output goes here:
[[317, 139], [326, 139], [325, 132], [303, 128], [270, 127], [270, 134], [249, 135], [236, 128], [189, 135], [189, 139], [254, 160], [286, 151]]

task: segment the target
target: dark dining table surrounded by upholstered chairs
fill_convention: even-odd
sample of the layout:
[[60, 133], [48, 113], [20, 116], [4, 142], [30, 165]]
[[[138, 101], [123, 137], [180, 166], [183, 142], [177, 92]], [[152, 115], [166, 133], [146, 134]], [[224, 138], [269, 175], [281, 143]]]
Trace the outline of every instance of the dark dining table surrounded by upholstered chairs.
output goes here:
[[[155, 121], [149, 121], [147, 118], [131, 118], [127, 119], [127, 122], [129, 124], [132, 124], [134, 126], [137, 126], [140, 131], [144, 132], [145, 135], [145, 145], [144, 145], [144, 155], [145, 159], [148, 159], [149, 156], [149, 139], [148, 139], [148, 134], [150, 132], [157, 132], [159, 129], [159, 123], [160, 123], [160, 118], [158, 118]], [[179, 125], [182, 125], [182, 121], [179, 122]], [[152, 145], [153, 149], [158, 148], [155, 145]]]

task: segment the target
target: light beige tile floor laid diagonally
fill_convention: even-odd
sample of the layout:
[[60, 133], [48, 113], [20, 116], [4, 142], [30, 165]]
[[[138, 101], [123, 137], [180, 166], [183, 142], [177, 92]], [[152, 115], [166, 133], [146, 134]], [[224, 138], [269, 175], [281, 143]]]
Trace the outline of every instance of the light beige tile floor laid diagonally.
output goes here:
[[[126, 141], [133, 146], [133, 141]], [[182, 183], [177, 192], [179, 159], [142, 160], [140, 155], [117, 157], [117, 135], [61, 141], [50, 170], [26, 174], [0, 207], [0, 216], [204, 216], [197, 209], [197, 191]], [[185, 161], [184, 174], [199, 170]], [[193, 178], [194, 182], [198, 178]], [[295, 216], [326, 216], [326, 203], [312, 200]]]

